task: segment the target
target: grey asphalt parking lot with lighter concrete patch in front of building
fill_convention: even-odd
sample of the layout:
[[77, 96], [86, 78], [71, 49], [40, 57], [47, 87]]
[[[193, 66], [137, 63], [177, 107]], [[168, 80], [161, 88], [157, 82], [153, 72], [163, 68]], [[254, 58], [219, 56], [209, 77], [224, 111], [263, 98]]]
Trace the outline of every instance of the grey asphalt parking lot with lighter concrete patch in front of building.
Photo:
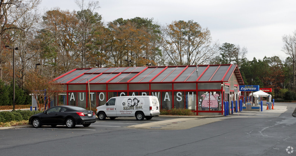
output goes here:
[[[89, 127], [0, 130], [2, 155], [286, 155], [296, 147], [296, 103], [218, 118], [134, 117]], [[204, 123], [204, 124], [202, 124]], [[181, 127], [181, 128], [180, 128]]]

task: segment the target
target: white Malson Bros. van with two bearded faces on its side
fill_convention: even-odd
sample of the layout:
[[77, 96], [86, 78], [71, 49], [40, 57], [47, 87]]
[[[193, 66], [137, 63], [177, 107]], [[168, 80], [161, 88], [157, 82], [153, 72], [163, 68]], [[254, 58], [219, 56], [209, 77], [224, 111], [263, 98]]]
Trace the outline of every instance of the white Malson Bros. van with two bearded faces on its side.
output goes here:
[[97, 107], [99, 120], [106, 117], [115, 119], [122, 116], [136, 116], [137, 120], [159, 116], [159, 102], [156, 96], [112, 97], [103, 106]]

